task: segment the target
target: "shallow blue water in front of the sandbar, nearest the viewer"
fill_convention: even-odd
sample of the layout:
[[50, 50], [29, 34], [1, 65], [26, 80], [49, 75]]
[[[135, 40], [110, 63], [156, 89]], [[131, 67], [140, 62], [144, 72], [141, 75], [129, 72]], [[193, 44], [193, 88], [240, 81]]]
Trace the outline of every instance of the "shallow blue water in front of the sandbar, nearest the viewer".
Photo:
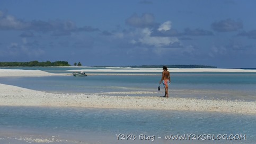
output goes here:
[[[196, 143], [202, 141], [206, 143], [216, 141], [220, 143], [251, 143], [256, 140], [256, 115], [191, 111], [1, 106], [0, 116], [0, 143], [4, 139], [15, 140], [15, 137], [18, 136], [22, 139], [49, 139], [54, 136], [55, 139], [67, 140], [71, 143], [72, 140], [73, 142], [75, 140], [75, 142], [87, 141], [90, 143], [100, 140], [100, 142], [105, 143], [105, 138], [108, 142], [116, 143], [153, 142], [152, 140], [140, 141], [140, 134], [143, 134], [143, 137], [155, 136], [154, 142], [164, 141], [167, 143], [173, 141], [164, 140], [165, 135], [170, 136], [170, 134], [195, 134], [195, 136], [198, 134], [211, 134], [213, 136], [212, 134], [214, 134], [215, 138], [218, 134], [246, 135], [246, 140], [202, 140], [203, 137], [201, 137], [199, 141], [191, 140], [193, 136], [191, 135], [190, 140], [174, 140], [178, 143], [191, 143], [193, 141]], [[23, 134], [19, 131], [23, 131]], [[116, 134], [117, 136], [120, 134], [119, 140]], [[120, 140], [122, 134], [125, 136], [126, 134], [133, 134], [138, 138], [136, 140]], [[19, 141], [24, 142], [25, 140]]]

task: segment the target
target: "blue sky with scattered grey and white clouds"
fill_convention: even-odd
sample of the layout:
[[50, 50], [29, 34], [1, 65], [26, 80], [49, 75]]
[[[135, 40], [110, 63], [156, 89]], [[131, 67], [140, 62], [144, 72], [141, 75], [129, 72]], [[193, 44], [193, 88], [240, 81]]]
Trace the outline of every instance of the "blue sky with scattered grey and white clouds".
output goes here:
[[256, 68], [254, 0], [1, 0], [0, 61]]

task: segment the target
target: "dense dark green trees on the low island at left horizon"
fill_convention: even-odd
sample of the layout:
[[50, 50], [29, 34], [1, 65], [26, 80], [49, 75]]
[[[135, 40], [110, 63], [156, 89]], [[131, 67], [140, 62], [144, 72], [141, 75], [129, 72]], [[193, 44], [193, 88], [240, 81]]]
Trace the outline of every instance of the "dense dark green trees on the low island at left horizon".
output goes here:
[[60, 67], [60, 66], [70, 66], [67, 61], [55, 61], [55, 62], [0, 62], [0, 67]]

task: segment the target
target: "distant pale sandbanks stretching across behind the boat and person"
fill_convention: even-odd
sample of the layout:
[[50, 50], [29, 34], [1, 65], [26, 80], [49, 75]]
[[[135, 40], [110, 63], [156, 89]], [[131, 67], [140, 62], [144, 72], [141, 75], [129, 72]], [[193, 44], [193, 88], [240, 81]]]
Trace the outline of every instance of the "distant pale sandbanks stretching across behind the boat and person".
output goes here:
[[[72, 75], [73, 71], [85, 71], [86, 73], [89, 72], [90, 73], [89, 75], [145, 75], [143, 73], [160, 73], [161, 75], [162, 73], [162, 69], [159, 69], [159, 68], [74, 69], [74, 70], [66, 70], [65, 74], [64, 73], [48, 73], [42, 70], [0, 69], [0, 77], [70, 76]], [[173, 73], [179, 73], [179, 72], [180, 73], [186, 73], [186, 72], [256, 73], [255, 69], [222, 69], [222, 68], [170, 68], [169, 71], [171, 73], [172, 72]], [[64, 71], [61, 71], [61, 72], [64, 72]], [[133, 74], [122, 74], [122, 72], [133, 73]], [[109, 73], [109, 74], [106, 74], [106, 73]]]

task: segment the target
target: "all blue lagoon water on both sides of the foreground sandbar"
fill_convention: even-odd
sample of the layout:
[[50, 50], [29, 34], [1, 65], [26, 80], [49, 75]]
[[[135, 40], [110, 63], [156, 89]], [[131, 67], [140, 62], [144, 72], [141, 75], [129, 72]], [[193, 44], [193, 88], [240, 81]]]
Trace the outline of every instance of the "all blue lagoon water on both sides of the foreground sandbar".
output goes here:
[[[22, 69], [72, 74], [81, 68]], [[0, 83], [50, 93], [164, 94], [163, 86], [157, 89], [161, 69], [160, 73], [106, 73], [97, 69], [129, 68], [83, 68], [91, 69], [87, 77], [0, 77]], [[170, 97], [255, 101], [255, 79], [256, 73], [171, 73], [169, 93]], [[255, 129], [254, 114], [0, 106], [0, 143], [255, 143]]]

